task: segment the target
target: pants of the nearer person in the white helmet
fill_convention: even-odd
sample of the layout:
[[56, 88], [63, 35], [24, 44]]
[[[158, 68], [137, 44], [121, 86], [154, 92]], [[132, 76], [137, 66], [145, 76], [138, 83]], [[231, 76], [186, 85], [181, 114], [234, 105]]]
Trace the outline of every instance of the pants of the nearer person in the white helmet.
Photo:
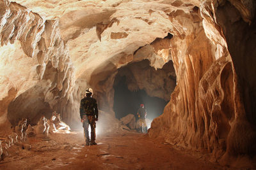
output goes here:
[[[89, 125], [91, 127], [91, 140], [89, 137], [89, 132], [88, 132], [88, 128]], [[95, 133], [95, 128], [96, 128], [96, 123], [95, 123], [95, 116], [91, 116], [91, 115], [86, 115], [83, 117], [83, 128], [84, 128], [84, 139], [86, 143], [93, 143], [95, 142], [95, 137], [96, 137], [96, 133]]]

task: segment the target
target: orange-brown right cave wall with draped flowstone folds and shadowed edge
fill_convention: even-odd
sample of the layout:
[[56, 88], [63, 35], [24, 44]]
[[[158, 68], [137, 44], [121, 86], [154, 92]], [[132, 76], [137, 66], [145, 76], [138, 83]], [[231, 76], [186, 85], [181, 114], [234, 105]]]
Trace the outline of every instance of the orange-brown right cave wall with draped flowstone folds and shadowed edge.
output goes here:
[[[221, 164], [252, 166], [253, 162], [241, 159], [256, 153], [251, 75], [255, 73], [255, 1], [203, 1], [200, 16], [200, 29], [172, 41], [177, 87], [149, 134], [211, 152], [213, 161]], [[177, 48], [180, 44], [183, 52]]]

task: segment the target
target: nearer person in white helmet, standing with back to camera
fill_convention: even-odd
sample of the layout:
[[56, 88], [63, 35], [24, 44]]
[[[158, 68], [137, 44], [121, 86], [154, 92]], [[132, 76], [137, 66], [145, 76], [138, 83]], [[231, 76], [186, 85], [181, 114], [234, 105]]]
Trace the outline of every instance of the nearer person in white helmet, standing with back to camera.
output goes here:
[[[93, 90], [88, 88], [85, 91], [85, 97], [81, 100], [80, 104], [80, 117], [84, 128], [85, 145], [97, 145], [95, 143], [96, 138], [96, 121], [98, 121], [99, 112], [97, 106], [97, 100], [92, 97]], [[89, 137], [88, 128], [91, 127], [91, 139]]]

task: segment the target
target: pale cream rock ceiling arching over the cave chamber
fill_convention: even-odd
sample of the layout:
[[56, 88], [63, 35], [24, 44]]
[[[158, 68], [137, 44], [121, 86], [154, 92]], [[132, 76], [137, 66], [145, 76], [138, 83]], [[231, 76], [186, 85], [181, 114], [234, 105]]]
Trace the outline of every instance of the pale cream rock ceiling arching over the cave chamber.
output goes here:
[[199, 6], [199, 1], [13, 2], [26, 6], [44, 20], [59, 20], [61, 39], [68, 46], [76, 78], [86, 80], [90, 80], [95, 69], [104, 68], [102, 64], [109, 62], [118, 68], [149, 59], [156, 69], [163, 67], [171, 59], [169, 46], [147, 46], [144, 51], [154, 52], [146, 55], [144, 52], [143, 56], [133, 54], [156, 38], [164, 38], [168, 32], [179, 36], [189, 34], [193, 29], [182, 18], [189, 18], [191, 9]]

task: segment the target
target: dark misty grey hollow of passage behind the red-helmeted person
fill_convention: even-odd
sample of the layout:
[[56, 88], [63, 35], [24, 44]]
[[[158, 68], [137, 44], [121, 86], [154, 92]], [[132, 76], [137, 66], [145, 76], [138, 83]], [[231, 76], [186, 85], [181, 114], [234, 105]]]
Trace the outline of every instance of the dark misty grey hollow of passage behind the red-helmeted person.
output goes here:
[[140, 104], [144, 104], [147, 110], [147, 118], [153, 120], [163, 113], [167, 102], [159, 97], [150, 97], [145, 90], [131, 92], [126, 83], [126, 77], [122, 76], [120, 81], [114, 85], [114, 106], [116, 118], [120, 119], [128, 114], [136, 116]]

